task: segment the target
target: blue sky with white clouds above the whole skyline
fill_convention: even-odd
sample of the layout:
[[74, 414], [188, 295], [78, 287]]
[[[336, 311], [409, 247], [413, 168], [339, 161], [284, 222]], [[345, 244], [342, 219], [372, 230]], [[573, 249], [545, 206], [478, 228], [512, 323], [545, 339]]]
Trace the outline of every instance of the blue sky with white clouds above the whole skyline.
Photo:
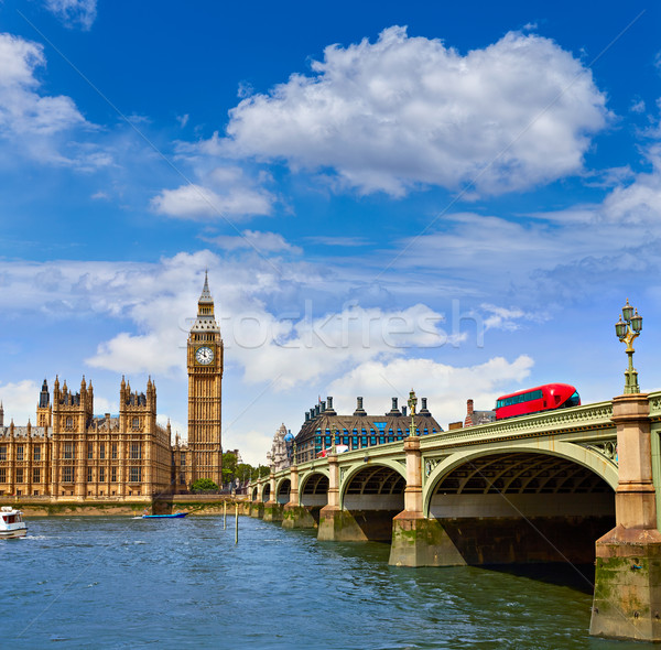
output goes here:
[[0, 4], [0, 399], [121, 376], [185, 434], [208, 269], [224, 446], [369, 412], [661, 388], [654, 3]]

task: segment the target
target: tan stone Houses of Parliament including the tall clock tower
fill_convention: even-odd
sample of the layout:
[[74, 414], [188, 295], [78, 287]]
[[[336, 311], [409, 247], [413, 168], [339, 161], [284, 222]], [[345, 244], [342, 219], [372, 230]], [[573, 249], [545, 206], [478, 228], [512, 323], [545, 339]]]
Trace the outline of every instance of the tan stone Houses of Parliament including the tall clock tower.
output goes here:
[[94, 412], [94, 388], [44, 380], [32, 424], [4, 423], [0, 402], [0, 496], [52, 500], [144, 500], [186, 492], [197, 478], [223, 477], [223, 339], [205, 275], [186, 346], [188, 435], [172, 441], [156, 422], [156, 387], [144, 392], [122, 377], [119, 414]]

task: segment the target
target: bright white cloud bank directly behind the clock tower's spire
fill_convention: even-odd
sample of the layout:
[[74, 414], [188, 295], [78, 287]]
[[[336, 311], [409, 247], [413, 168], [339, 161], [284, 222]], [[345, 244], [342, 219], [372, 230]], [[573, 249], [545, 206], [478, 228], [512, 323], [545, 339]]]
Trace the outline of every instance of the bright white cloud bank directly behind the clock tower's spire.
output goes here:
[[[111, 300], [123, 300], [124, 304], [112, 311], [128, 312], [141, 333], [117, 334], [101, 343], [87, 362], [117, 372], [181, 371], [182, 349], [194, 313], [191, 295], [199, 290], [202, 259], [199, 254], [180, 254], [164, 261], [164, 268], [152, 269], [138, 286], [133, 273], [123, 275], [121, 282], [118, 275]], [[273, 382], [274, 390], [289, 390], [369, 359], [465, 339], [460, 332], [445, 332], [443, 314], [422, 304], [405, 310], [347, 305], [322, 315], [308, 301], [303, 312], [277, 314], [263, 305], [261, 295], [250, 295], [256, 275], [239, 279], [236, 268], [226, 263], [220, 270], [218, 261], [208, 254], [206, 261], [212, 280], [224, 279], [212, 282], [218, 296], [217, 318], [225, 348], [242, 368], [248, 383]], [[254, 272], [254, 267], [251, 270]], [[261, 273], [263, 279], [268, 271]], [[264, 281], [269, 286], [278, 279]]]

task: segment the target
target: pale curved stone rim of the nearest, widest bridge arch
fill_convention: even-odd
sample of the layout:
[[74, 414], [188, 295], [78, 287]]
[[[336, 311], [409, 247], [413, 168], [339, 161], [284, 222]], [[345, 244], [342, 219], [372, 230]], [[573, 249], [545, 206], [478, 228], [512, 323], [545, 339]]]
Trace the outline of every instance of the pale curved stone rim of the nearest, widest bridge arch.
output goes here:
[[430, 516], [431, 500], [436, 491], [436, 488], [438, 487], [438, 484], [454, 469], [460, 467], [462, 465], [477, 462], [480, 458], [502, 454], [539, 454], [542, 456], [554, 456], [562, 461], [568, 461], [589, 469], [606, 484], [608, 484], [614, 491], [617, 488], [617, 467], [607, 461], [599, 452], [588, 447], [551, 440], [538, 440], [517, 445], [499, 445], [490, 447], [487, 453], [481, 449], [469, 453], [460, 452], [452, 454], [438, 463], [438, 465], [436, 465], [436, 467], [434, 467], [434, 469], [431, 472], [423, 487], [423, 512], [425, 517]]

